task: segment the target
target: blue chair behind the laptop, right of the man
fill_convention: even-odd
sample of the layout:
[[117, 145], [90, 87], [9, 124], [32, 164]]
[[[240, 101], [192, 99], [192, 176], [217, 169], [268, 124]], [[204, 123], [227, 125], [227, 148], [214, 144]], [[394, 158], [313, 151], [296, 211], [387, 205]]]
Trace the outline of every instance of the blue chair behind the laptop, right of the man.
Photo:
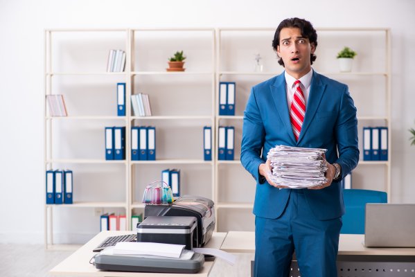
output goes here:
[[364, 214], [367, 203], [387, 203], [387, 193], [377, 190], [343, 190], [344, 208], [343, 226], [340, 233], [364, 234]]

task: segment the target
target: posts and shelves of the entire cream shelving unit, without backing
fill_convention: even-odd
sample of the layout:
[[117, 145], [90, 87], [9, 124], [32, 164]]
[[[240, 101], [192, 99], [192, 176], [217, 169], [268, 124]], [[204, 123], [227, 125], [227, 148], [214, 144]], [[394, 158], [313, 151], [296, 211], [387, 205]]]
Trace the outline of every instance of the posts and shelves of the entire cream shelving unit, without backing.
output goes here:
[[[124, 202], [74, 202], [71, 205], [46, 205], [44, 208], [44, 242], [46, 248], [53, 246], [53, 208], [59, 206], [59, 208], [124, 208], [125, 214], [127, 215], [127, 228], [130, 229], [130, 218], [132, 216], [132, 211], [134, 208], [143, 209], [144, 205], [141, 202], [137, 202], [137, 199], [134, 201], [134, 167], [141, 165], [163, 165], [163, 164], [173, 164], [173, 165], [204, 165], [207, 164], [211, 168], [211, 194], [213, 201], [215, 202], [215, 213], [217, 218], [216, 230], [224, 231], [220, 228], [218, 224], [218, 215], [221, 213], [226, 214], [227, 209], [233, 209], [236, 211], [249, 211], [253, 207], [252, 202], [232, 202], [227, 200], [219, 201], [219, 188], [220, 188], [220, 170], [219, 167], [227, 167], [240, 165], [239, 160], [235, 161], [219, 161], [217, 146], [218, 145], [218, 136], [217, 129], [220, 125], [221, 120], [236, 120], [236, 122], [242, 122], [243, 116], [237, 114], [236, 116], [219, 116], [218, 113], [218, 88], [221, 78], [224, 76], [258, 76], [259, 82], [267, 78], [271, 78], [274, 75], [281, 73], [281, 71], [272, 71], [272, 72], [251, 72], [251, 71], [221, 71], [221, 36], [223, 32], [235, 31], [235, 32], [244, 32], [246, 38], [249, 39], [249, 34], [254, 34], [256, 32], [270, 31], [274, 32], [274, 28], [123, 28], [123, 29], [49, 29], [45, 30], [45, 47], [44, 47], [44, 87], [45, 95], [53, 93], [51, 91], [53, 76], [67, 76], [67, 75], [79, 75], [79, 76], [94, 76], [94, 75], [103, 75], [103, 76], [124, 76], [126, 83], [126, 114], [125, 117], [120, 116], [67, 116], [67, 117], [52, 117], [48, 116], [46, 103], [44, 101], [44, 170], [52, 168], [55, 164], [60, 163], [74, 163], [74, 164], [122, 164], [125, 166], [125, 201]], [[53, 71], [52, 68], [52, 39], [53, 33], [84, 33], [84, 32], [125, 32], [125, 52], [126, 52], [126, 63], [124, 72], [74, 72], [74, 71]], [[168, 31], [195, 31], [195, 32], [207, 32], [209, 36], [211, 35], [211, 64], [206, 66], [206, 69], [210, 68], [207, 71], [185, 71], [185, 72], [166, 72], [166, 71], [135, 71], [136, 65], [134, 64], [134, 34], [136, 32], [168, 32]], [[361, 32], [361, 31], [376, 31], [376, 32], [385, 32], [385, 71], [376, 71], [376, 72], [350, 72], [350, 73], [340, 73], [340, 72], [320, 72], [324, 75], [339, 75], [339, 76], [383, 76], [385, 78], [385, 91], [386, 91], [386, 111], [383, 116], [359, 116], [358, 120], [382, 120], [385, 122], [385, 126], [388, 127], [388, 147], [389, 147], [389, 157], [387, 161], [360, 161], [358, 167], [364, 166], [384, 166], [385, 167], [385, 184], [386, 187], [384, 190], [388, 194], [388, 201], [391, 199], [391, 35], [389, 28], [317, 28], [317, 33], [325, 31], [352, 31], [352, 32]], [[319, 46], [324, 47], [324, 46]], [[276, 61], [274, 61], [276, 62]], [[130, 96], [134, 93], [134, 76], [137, 75], [152, 75], [152, 76], [204, 76], [210, 78], [211, 82], [211, 114], [206, 116], [186, 116], [183, 115], [172, 115], [172, 116], [147, 116], [139, 117], [132, 116], [132, 107], [130, 102]], [[238, 88], [237, 88], [238, 90]], [[238, 91], [236, 92], [236, 98], [238, 98]], [[238, 99], [237, 99], [238, 100]], [[59, 122], [61, 120], [120, 120], [125, 125], [125, 160], [123, 161], [105, 161], [105, 159], [53, 159], [53, 149], [52, 141], [53, 136], [51, 132], [52, 123]], [[135, 121], [145, 120], [145, 122], [151, 122], [157, 124], [157, 122], [171, 121], [172, 123], [180, 120], [208, 120], [211, 123], [212, 127], [212, 161], [204, 161], [203, 159], [158, 159], [156, 161], [131, 161], [130, 160], [130, 130]], [[240, 141], [236, 141], [235, 145], [240, 145]], [[238, 157], [236, 157], [237, 159]], [[44, 178], [44, 184], [46, 184], [46, 177]], [[46, 188], [45, 188], [46, 190]], [[253, 199], [253, 197], [252, 197]], [[46, 203], [46, 198], [44, 199]], [[222, 211], [224, 210], [224, 211]]]

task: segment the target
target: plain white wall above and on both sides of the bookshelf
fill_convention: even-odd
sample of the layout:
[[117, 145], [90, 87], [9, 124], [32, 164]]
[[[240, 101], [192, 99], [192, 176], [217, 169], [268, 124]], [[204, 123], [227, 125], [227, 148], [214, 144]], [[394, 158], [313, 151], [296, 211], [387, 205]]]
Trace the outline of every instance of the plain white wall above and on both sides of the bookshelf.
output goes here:
[[[0, 242], [43, 242], [44, 28], [387, 27], [392, 34], [392, 201], [415, 202], [415, 3], [378, 1], [0, 0]], [[271, 39], [271, 38], [270, 38]]]

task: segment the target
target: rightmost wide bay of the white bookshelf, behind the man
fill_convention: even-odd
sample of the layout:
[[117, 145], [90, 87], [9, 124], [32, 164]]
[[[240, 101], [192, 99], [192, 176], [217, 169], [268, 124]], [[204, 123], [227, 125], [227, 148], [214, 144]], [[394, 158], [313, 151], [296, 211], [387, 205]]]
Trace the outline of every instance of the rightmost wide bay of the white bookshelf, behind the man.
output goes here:
[[[218, 116], [216, 111], [216, 128], [220, 125], [241, 125], [243, 109], [254, 84], [263, 82], [283, 71], [272, 50], [272, 39], [275, 28], [219, 28], [217, 30], [216, 57], [216, 87], [219, 82], [236, 82], [236, 116]], [[388, 28], [317, 28], [318, 46], [317, 60], [312, 67], [319, 73], [348, 84], [351, 96], [357, 107], [357, 120], [359, 122], [359, 148], [360, 162], [353, 175], [354, 188], [382, 190], [387, 192], [388, 201], [391, 199], [391, 38]], [[364, 39], [363, 39], [364, 38]], [[367, 47], [371, 45], [371, 47]], [[241, 46], [241, 47], [239, 47]], [[357, 57], [353, 61], [351, 72], [338, 70], [336, 55], [344, 46], [350, 46], [357, 51]], [[254, 55], [260, 53], [263, 60], [263, 72], [254, 72]], [[249, 69], [249, 67], [251, 67]], [[364, 84], [364, 89], [359, 87]], [[364, 100], [371, 100], [364, 93], [371, 93], [373, 97], [376, 89], [380, 89], [381, 100], [365, 107]], [[218, 98], [218, 93], [216, 94]], [[241, 103], [242, 102], [242, 103]], [[378, 107], [376, 107], [378, 105]], [[369, 107], [369, 108], [368, 108]], [[363, 161], [362, 156], [362, 127], [386, 126], [389, 129], [389, 157], [387, 161]], [[218, 132], [218, 129], [216, 130]], [[216, 141], [218, 145], [218, 141]], [[240, 148], [240, 141], [235, 141], [236, 148]], [[240, 153], [240, 149], [236, 150]], [[240, 213], [241, 219], [251, 216], [251, 207], [254, 202], [255, 181], [249, 175], [244, 175], [242, 166], [236, 170], [240, 163], [236, 154], [236, 161], [218, 161], [215, 165], [215, 185], [218, 187], [215, 199], [217, 199], [218, 213], [221, 210]], [[217, 156], [216, 156], [217, 159]], [[229, 182], [227, 170], [233, 170], [235, 179]], [[379, 182], [373, 181], [376, 178]], [[239, 177], [242, 176], [242, 177]], [[378, 184], [379, 183], [379, 184]], [[224, 186], [231, 186], [226, 190]], [[221, 197], [224, 193], [229, 197], [237, 190], [244, 190], [235, 201]], [[228, 197], [228, 198], [229, 198]], [[242, 202], [242, 203], [241, 203]], [[230, 216], [233, 216], [231, 214]], [[229, 220], [231, 220], [229, 218]], [[226, 220], [220, 221], [226, 222]], [[242, 221], [243, 222], [243, 221]], [[243, 224], [245, 224], [244, 222]], [[225, 224], [226, 225], [226, 224]], [[238, 226], [236, 227], [238, 229]], [[225, 231], [218, 226], [219, 231]], [[253, 231], [254, 223], [247, 224], [245, 231]], [[229, 230], [226, 230], [229, 231]]]

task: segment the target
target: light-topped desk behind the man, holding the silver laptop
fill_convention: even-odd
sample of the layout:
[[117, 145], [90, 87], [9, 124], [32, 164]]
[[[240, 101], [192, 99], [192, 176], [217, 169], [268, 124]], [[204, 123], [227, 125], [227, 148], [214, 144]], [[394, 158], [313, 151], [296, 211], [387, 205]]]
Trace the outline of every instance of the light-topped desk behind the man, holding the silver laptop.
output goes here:
[[[415, 248], [368, 248], [363, 242], [364, 235], [340, 235], [339, 277], [415, 276]], [[220, 249], [231, 253], [254, 253], [255, 233], [230, 231]], [[296, 264], [293, 260], [292, 267]], [[298, 267], [294, 271], [297, 273]]]

